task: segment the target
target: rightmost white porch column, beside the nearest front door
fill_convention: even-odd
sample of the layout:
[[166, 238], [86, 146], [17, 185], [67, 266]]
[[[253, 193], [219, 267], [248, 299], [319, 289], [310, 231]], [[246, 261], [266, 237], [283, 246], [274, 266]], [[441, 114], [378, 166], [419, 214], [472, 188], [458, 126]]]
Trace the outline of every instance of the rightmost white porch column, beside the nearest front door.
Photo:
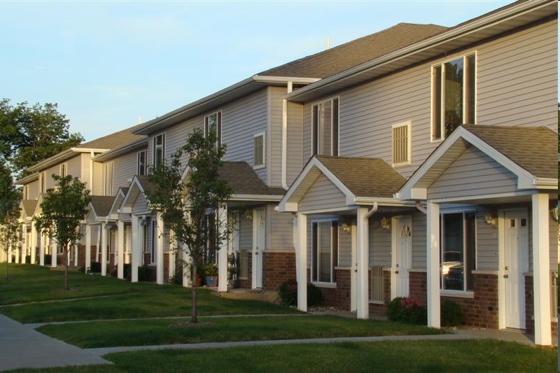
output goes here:
[[533, 293], [535, 344], [550, 346], [550, 258], [548, 237], [548, 195], [538, 193], [533, 202]]

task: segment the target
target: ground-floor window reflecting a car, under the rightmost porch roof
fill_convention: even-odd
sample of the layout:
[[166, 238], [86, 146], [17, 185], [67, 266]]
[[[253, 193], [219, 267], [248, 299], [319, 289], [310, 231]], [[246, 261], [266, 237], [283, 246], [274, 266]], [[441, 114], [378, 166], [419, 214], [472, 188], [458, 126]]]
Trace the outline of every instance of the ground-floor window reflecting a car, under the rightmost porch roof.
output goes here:
[[476, 213], [442, 213], [442, 290], [474, 290], [476, 263]]

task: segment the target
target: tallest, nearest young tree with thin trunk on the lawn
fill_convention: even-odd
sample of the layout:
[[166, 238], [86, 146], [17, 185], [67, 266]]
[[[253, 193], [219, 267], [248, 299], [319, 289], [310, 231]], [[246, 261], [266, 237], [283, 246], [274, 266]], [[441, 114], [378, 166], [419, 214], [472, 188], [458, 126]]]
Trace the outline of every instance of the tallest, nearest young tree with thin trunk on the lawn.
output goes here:
[[[150, 207], [161, 214], [166, 227], [173, 231], [174, 250], [183, 250], [190, 258], [193, 277], [202, 265], [207, 244], [219, 248], [228, 237], [228, 219], [220, 216], [221, 207], [231, 195], [228, 182], [218, 178], [223, 155], [225, 145], [218, 145], [215, 131], [204, 137], [202, 130], [196, 129], [169, 162], [148, 172], [148, 180], [155, 185], [153, 190], [146, 190]], [[187, 175], [183, 181], [184, 170]], [[191, 322], [197, 323], [194, 281], [191, 294]]]

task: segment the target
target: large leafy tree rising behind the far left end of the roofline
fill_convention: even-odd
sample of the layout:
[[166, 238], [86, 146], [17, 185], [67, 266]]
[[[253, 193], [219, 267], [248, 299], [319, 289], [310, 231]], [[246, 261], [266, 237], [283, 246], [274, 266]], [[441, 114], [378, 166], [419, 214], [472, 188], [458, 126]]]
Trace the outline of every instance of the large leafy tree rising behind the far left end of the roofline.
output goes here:
[[18, 178], [26, 175], [27, 167], [81, 141], [79, 133], [69, 132], [69, 119], [57, 104], [11, 106], [9, 99], [0, 101], [0, 157]]

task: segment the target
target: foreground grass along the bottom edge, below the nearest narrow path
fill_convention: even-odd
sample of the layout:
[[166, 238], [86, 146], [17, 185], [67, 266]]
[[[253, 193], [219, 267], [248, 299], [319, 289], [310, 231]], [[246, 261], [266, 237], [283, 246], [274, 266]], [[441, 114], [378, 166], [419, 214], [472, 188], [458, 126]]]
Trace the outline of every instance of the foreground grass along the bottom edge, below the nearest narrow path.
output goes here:
[[[512, 342], [407, 341], [113, 353], [65, 372], [553, 372], [556, 349]], [[60, 368], [41, 370], [59, 372]], [[37, 372], [22, 370], [21, 372]]]

